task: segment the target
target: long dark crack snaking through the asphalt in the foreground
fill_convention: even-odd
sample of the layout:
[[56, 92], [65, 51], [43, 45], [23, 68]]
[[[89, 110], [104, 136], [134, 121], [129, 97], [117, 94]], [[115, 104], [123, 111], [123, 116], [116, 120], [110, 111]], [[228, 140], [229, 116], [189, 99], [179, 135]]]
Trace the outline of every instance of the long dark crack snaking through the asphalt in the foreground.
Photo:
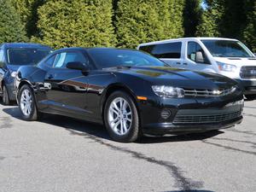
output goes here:
[[172, 174], [172, 177], [175, 179], [175, 182], [176, 182], [175, 187], [177, 187], [178, 189], [190, 191], [192, 189], [203, 188], [203, 182], [193, 181], [192, 179], [185, 177], [183, 175], [182, 169], [180, 167], [176, 166], [171, 161], [157, 160], [154, 157], [148, 157], [145, 154], [139, 153], [137, 151], [133, 151], [128, 148], [122, 148], [122, 147], [118, 147], [118, 146], [115, 146], [110, 143], [106, 143], [106, 142], [102, 141], [102, 139], [95, 137], [93, 135], [90, 135], [89, 133], [84, 133], [84, 132], [81, 133], [81, 132], [73, 131], [70, 129], [67, 129], [67, 131], [70, 131], [71, 134], [73, 134], [73, 135], [79, 135], [79, 136], [83, 136], [85, 138], [92, 139], [94, 142], [102, 144], [103, 146], [111, 148], [112, 150], [123, 152], [125, 154], [131, 154], [131, 156], [136, 158], [137, 160], [145, 160], [149, 163], [153, 163], [155, 165], [165, 167], [166, 170], [168, 172], [170, 172]]

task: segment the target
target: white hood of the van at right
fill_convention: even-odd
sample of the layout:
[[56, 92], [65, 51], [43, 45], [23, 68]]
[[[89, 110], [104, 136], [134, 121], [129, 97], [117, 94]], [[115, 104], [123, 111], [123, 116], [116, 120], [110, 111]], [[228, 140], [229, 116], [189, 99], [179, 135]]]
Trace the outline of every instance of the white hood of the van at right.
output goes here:
[[214, 57], [214, 59], [218, 62], [235, 65], [236, 67], [256, 66], [256, 57], [252, 57], [252, 58]]

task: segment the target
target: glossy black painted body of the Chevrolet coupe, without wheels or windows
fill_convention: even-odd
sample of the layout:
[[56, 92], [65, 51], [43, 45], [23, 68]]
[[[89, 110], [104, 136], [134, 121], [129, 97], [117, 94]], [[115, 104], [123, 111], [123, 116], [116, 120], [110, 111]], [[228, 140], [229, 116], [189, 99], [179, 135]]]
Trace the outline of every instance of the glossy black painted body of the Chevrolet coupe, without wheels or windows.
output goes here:
[[[96, 49], [96, 48], [95, 48]], [[62, 52], [80, 52], [89, 59], [89, 72], [67, 68], [53, 68], [46, 62]], [[230, 102], [243, 99], [238, 88], [227, 96], [161, 98], [152, 85], [170, 85], [186, 89], [220, 90], [237, 85], [236, 81], [212, 73], [199, 73], [172, 67], [96, 67], [88, 49], [72, 48], [56, 50], [38, 63], [38, 67], [20, 67], [15, 87], [19, 94], [22, 84], [30, 84], [34, 90], [38, 110], [44, 113], [67, 115], [96, 123], [103, 123], [102, 110], [109, 94], [124, 90], [134, 100], [144, 133], [162, 134], [179, 131], [207, 131], [223, 129], [240, 123], [242, 117], [216, 125], [175, 125], [172, 123], [181, 109], [221, 110]], [[100, 56], [100, 55], [99, 55]], [[238, 85], [237, 85], [238, 86]], [[147, 101], [137, 99], [147, 97]], [[161, 111], [168, 108], [172, 115], [162, 119]], [[241, 110], [240, 106], [238, 110]]]

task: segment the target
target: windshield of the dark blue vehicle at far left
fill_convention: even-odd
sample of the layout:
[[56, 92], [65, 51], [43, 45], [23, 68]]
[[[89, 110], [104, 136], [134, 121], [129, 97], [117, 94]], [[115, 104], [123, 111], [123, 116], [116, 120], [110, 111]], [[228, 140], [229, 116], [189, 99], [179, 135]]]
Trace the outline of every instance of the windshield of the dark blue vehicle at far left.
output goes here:
[[50, 49], [14, 48], [8, 49], [8, 63], [10, 65], [34, 65], [48, 55]]

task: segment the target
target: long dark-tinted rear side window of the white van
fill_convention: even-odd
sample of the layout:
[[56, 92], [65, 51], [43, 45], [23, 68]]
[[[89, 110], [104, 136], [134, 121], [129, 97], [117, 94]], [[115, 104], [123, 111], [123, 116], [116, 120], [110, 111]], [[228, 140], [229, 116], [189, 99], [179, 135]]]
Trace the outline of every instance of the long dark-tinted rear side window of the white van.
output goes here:
[[140, 47], [141, 50], [154, 55], [157, 58], [178, 59], [181, 56], [181, 42], [167, 44], [152, 44]]

